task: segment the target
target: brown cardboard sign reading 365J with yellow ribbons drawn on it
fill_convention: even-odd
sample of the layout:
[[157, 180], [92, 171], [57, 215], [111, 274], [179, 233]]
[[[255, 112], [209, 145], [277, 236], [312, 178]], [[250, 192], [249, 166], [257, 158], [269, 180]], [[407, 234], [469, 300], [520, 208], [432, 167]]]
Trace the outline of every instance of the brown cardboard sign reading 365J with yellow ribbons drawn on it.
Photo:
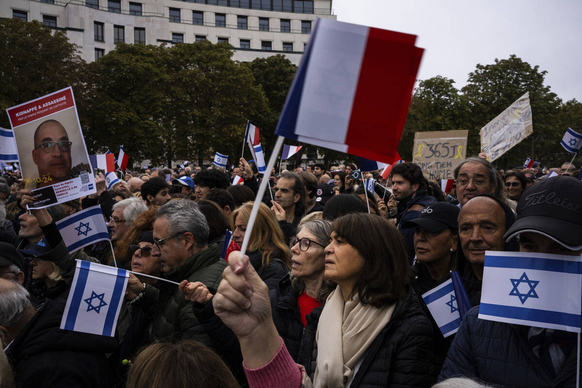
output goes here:
[[453, 179], [453, 172], [467, 154], [469, 131], [434, 131], [414, 134], [412, 162], [426, 179]]

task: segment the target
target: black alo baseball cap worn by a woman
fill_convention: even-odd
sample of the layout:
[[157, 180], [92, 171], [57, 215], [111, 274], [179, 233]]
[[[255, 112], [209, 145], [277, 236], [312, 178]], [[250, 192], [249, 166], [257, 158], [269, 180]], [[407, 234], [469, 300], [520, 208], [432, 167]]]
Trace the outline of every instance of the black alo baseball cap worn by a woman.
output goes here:
[[420, 215], [402, 224], [404, 229], [420, 226], [431, 233], [442, 232], [449, 228], [458, 233], [460, 209], [448, 202], [435, 202], [420, 211]]

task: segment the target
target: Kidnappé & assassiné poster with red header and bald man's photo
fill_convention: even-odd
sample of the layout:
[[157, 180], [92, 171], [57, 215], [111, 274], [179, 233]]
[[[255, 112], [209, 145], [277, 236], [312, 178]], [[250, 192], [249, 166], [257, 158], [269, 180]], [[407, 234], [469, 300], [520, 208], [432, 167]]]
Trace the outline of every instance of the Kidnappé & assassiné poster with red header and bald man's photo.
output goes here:
[[24, 188], [45, 208], [95, 193], [87, 147], [68, 87], [6, 109]]

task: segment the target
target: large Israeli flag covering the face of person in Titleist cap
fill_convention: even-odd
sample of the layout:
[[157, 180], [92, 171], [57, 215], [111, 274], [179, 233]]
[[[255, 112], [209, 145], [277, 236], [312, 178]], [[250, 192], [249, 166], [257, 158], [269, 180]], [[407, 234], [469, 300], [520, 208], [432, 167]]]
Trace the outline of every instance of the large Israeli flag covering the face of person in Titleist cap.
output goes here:
[[485, 252], [479, 318], [580, 333], [580, 256]]

